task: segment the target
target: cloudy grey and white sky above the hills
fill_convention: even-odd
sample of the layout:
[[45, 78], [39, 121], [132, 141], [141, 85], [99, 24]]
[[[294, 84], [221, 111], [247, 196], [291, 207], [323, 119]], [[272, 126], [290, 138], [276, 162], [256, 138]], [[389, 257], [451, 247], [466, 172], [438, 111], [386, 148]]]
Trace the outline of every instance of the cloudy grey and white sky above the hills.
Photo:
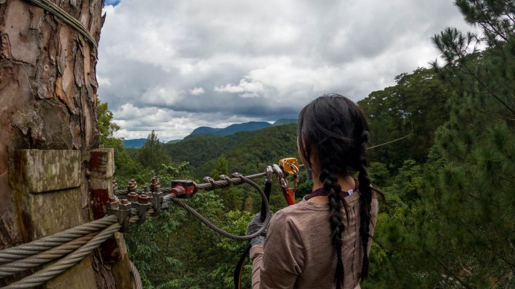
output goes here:
[[[97, 79], [118, 136], [297, 117], [317, 95], [355, 101], [470, 29], [452, 0], [107, 0]], [[111, 4], [111, 5], [108, 5]]]

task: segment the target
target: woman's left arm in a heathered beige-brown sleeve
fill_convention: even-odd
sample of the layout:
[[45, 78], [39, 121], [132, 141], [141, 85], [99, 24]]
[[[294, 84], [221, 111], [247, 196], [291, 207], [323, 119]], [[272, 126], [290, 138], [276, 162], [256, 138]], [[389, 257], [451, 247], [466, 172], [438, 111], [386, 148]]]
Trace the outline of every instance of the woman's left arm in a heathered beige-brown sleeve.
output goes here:
[[302, 273], [304, 247], [287, 214], [278, 211], [273, 215], [265, 245], [253, 246], [250, 257], [252, 289], [293, 288]]

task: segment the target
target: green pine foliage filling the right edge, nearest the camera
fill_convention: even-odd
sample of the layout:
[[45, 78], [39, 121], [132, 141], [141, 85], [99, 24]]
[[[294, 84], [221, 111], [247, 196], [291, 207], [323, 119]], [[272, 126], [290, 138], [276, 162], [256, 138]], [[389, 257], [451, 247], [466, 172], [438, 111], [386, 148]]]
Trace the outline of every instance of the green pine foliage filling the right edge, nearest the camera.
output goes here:
[[483, 36], [448, 28], [433, 38], [445, 60], [434, 68], [448, 89], [447, 121], [426, 163], [405, 161], [384, 188], [398, 205], [377, 226], [387, 273], [370, 287], [515, 286], [515, 2], [456, 4]]

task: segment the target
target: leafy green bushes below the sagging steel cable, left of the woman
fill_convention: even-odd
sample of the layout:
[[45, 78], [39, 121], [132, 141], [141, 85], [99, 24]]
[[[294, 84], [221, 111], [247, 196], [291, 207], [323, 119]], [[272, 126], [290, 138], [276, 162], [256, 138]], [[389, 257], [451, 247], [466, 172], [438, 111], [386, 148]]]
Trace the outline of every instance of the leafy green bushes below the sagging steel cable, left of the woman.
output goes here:
[[[221, 199], [211, 192], [200, 191], [186, 202], [234, 234], [245, 234], [252, 219], [249, 212], [224, 213]], [[246, 246], [220, 237], [175, 206], [132, 226], [125, 239], [148, 288], [231, 288], [235, 264]], [[245, 267], [245, 287], [250, 286], [250, 269]]]

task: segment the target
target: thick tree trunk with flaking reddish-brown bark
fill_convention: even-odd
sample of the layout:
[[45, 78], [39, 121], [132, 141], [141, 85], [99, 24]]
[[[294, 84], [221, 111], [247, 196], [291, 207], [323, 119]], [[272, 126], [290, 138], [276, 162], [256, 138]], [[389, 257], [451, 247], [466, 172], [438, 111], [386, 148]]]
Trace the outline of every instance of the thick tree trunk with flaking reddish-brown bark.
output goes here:
[[[104, 23], [102, 0], [52, 1], [80, 21], [98, 43]], [[83, 222], [92, 220], [87, 169], [89, 152], [98, 147], [98, 83], [93, 45], [29, 1], [0, 0], [0, 35], [0, 249], [4, 249], [43, 237], [31, 233], [39, 224], [27, 220], [16, 201], [18, 192], [10, 174], [18, 149], [80, 151], [81, 209], [75, 213]], [[98, 287], [110, 286], [112, 276], [98, 266], [99, 258], [93, 259], [97, 285], [104, 284]]]

